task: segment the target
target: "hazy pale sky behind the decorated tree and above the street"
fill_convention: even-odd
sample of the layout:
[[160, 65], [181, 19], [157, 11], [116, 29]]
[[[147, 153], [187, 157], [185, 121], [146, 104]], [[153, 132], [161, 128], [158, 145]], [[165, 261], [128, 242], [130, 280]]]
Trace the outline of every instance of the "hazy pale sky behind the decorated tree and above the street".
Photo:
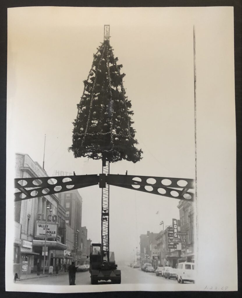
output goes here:
[[[204, 25], [206, 19], [206, 25]], [[193, 24], [202, 73], [206, 42], [220, 28], [195, 8], [25, 7], [8, 13], [8, 138], [12, 151], [27, 153], [45, 169], [101, 173], [101, 161], [75, 159], [72, 121], [103, 26], [123, 64], [124, 87], [134, 111], [134, 128], [144, 151], [136, 164], [110, 165], [113, 174], [195, 178]], [[210, 33], [210, 27], [213, 33]], [[204, 33], [206, 32], [206, 34]], [[205, 53], [204, 53], [205, 51]], [[198, 89], [199, 92], [199, 89]], [[14, 149], [13, 149], [14, 148]], [[14, 157], [13, 157], [14, 158]], [[83, 188], [82, 225], [101, 241], [101, 189]], [[179, 218], [178, 200], [110, 187], [110, 250], [130, 260], [139, 235], [159, 232], [159, 222]], [[156, 212], [159, 211], [159, 215]]]

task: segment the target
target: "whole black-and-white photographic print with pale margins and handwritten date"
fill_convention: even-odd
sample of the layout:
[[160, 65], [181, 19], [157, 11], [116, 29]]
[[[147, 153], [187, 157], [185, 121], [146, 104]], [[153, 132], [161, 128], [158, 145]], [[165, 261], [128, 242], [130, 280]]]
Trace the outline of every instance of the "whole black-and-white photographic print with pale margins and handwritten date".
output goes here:
[[237, 290], [233, 30], [8, 8], [6, 291]]

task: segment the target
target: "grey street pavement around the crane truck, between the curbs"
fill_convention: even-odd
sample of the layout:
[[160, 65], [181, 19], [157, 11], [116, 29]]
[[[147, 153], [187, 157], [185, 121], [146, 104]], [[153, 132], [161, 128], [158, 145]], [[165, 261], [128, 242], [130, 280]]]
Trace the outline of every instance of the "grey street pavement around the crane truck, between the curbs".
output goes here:
[[[177, 283], [175, 279], [165, 279], [161, 276], [156, 276], [155, 273], [141, 271], [140, 268], [131, 268], [129, 266], [118, 266], [121, 270], [121, 284], [170, 284]], [[27, 280], [19, 280], [17, 283], [31, 284], [31, 285], [69, 285], [69, 277], [67, 274], [57, 276], [39, 277]], [[100, 283], [100, 282], [99, 282]], [[106, 282], [102, 282], [106, 283]], [[76, 285], [90, 285], [90, 273], [77, 272]]]

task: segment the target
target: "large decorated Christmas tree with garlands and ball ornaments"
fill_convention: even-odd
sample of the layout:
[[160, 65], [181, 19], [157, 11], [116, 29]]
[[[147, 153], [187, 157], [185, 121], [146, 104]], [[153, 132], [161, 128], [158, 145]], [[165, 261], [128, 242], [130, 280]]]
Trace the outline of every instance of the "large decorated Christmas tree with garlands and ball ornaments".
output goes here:
[[104, 41], [94, 54], [84, 90], [77, 104], [74, 120], [72, 150], [75, 158], [88, 156], [117, 162], [122, 159], [137, 162], [142, 157], [135, 137], [131, 116], [131, 102], [125, 96], [120, 73], [122, 64], [117, 64], [109, 41]]

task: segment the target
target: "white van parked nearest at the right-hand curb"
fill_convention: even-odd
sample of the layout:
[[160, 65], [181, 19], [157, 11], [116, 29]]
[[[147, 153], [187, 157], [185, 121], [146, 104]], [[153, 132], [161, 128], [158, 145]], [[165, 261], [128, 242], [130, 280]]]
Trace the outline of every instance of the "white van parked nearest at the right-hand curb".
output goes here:
[[179, 263], [176, 268], [177, 282], [184, 283], [184, 281], [190, 281], [195, 283], [196, 279], [196, 265], [195, 263]]

